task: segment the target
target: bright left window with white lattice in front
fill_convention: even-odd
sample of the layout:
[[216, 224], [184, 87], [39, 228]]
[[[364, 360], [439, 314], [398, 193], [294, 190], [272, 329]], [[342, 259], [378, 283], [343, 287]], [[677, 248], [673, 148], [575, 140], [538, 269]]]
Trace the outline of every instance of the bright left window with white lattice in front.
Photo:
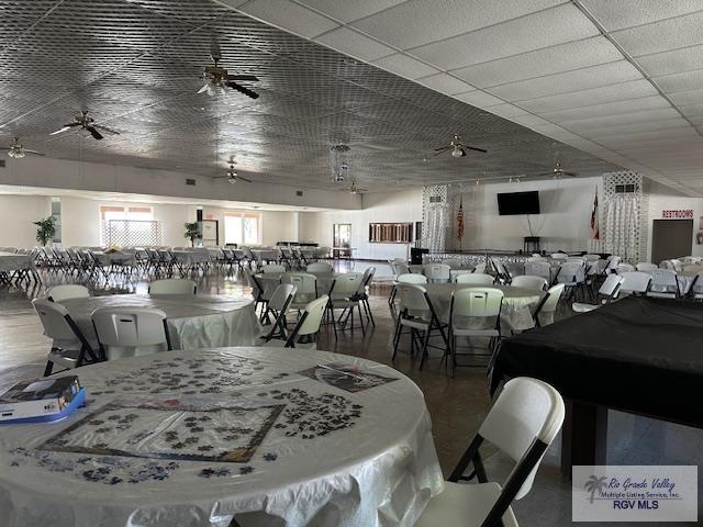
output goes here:
[[150, 206], [101, 205], [102, 244], [120, 246], [160, 245], [161, 232]]

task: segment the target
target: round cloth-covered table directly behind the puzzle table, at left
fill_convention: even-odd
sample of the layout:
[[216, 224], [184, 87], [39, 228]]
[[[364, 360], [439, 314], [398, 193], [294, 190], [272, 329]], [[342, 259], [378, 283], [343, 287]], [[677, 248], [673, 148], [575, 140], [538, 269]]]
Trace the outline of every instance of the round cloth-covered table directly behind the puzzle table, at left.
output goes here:
[[60, 303], [91, 343], [97, 343], [97, 336], [90, 314], [99, 307], [164, 311], [174, 349], [253, 346], [263, 332], [252, 299], [214, 294], [112, 294]]

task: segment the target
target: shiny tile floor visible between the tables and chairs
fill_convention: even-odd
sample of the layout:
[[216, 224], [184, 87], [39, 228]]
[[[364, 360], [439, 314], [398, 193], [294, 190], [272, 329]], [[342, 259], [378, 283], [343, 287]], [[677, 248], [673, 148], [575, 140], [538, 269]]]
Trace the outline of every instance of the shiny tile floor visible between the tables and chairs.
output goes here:
[[[339, 261], [337, 270], [364, 271], [373, 265], [377, 280], [371, 288], [371, 307], [377, 326], [367, 332], [341, 333], [335, 341], [332, 332], [322, 332], [319, 348], [341, 354], [391, 363], [389, 341], [393, 329], [393, 316], [388, 306], [391, 271], [384, 262]], [[46, 287], [65, 283], [62, 277], [44, 276], [43, 285], [0, 287], [0, 391], [22, 377], [41, 375], [49, 341], [42, 336], [41, 323], [30, 301], [45, 294]], [[248, 295], [249, 289], [241, 276], [226, 277], [214, 272], [200, 277], [199, 292]], [[88, 284], [89, 285], [89, 284]], [[116, 279], [109, 287], [93, 288], [93, 294], [146, 292], [146, 280]], [[406, 345], [406, 343], [405, 343]], [[425, 394], [432, 415], [437, 453], [445, 473], [448, 473], [468, 441], [473, 436], [489, 407], [484, 368], [460, 368], [450, 378], [438, 360], [433, 359], [423, 371], [413, 368], [408, 354], [399, 352], [394, 367], [413, 379]], [[678, 404], [672, 402], [672, 404]], [[703, 430], [639, 416], [611, 412], [609, 416], [609, 464], [698, 464], [703, 466]], [[523, 526], [571, 525], [570, 485], [559, 472], [560, 438], [549, 448], [542, 463], [533, 491], [514, 504], [515, 514]], [[489, 476], [499, 481], [511, 470], [511, 461], [504, 456], [487, 450]], [[699, 482], [701, 487], [701, 482]], [[700, 490], [700, 489], [699, 489]], [[701, 504], [699, 504], [701, 507]], [[703, 518], [702, 513], [699, 513]], [[584, 525], [584, 524], [574, 524]], [[593, 524], [607, 525], [607, 524]], [[617, 524], [628, 525], [628, 524]], [[634, 524], [633, 524], [634, 525]], [[651, 525], [651, 524], [650, 524]], [[673, 524], [671, 525], [687, 525]], [[688, 524], [690, 525], [690, 524]]]

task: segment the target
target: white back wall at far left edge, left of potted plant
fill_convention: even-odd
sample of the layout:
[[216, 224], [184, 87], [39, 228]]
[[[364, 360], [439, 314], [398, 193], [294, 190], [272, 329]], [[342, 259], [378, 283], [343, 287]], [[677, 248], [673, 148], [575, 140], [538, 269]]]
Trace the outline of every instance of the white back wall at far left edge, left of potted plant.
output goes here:
[[34, 247], [36, 225], [52, 213], [51, 198], [44, 195], [0, 195], [0, 246]]

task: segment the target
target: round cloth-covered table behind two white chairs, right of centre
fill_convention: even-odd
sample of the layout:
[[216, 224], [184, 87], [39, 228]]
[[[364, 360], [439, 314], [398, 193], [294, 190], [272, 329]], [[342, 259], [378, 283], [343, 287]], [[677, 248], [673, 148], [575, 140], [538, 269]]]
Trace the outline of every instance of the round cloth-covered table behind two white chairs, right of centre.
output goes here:
[[[427, 283], [423, 288], [427, 290], [429, 300], [434, 305], [437, 316], [443, 321], [449, 318], [451, 293], [459, 289], [476, 288], [475, 283]], [[544, 291], [535, 291], [514, 285], [487, 285], [503, 291], [503, 306], [501, 307], [501, 329], [525, 330], [535, 327], [532, 310], [537, 306]]]

